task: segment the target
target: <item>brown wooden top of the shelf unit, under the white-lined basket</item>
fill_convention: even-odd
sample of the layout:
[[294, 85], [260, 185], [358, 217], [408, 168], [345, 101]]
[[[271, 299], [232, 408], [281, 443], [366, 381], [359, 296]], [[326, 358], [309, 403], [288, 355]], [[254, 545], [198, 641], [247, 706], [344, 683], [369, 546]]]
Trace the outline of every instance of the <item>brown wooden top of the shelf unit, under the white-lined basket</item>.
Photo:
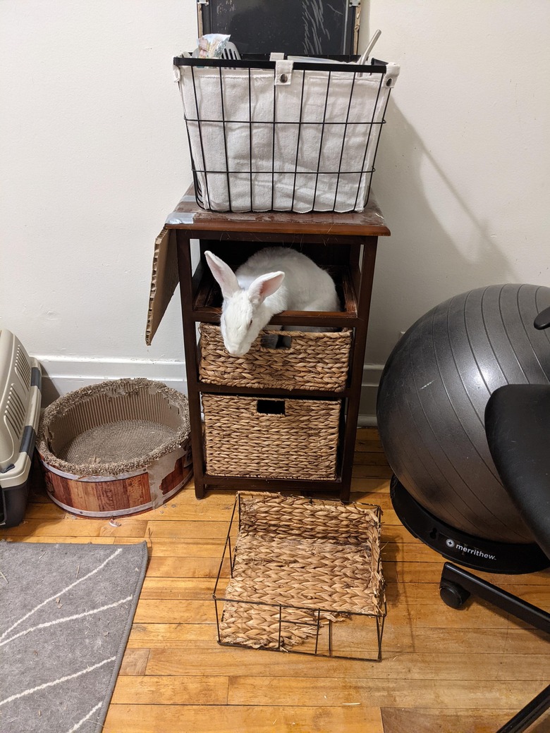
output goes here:
[[202, 209], [191, 185], [175, 210], [166, 218], [167, 229], [189, 232], [270, 232], [271, 234], [356, 235], [388, 237], [384, 216], [372, 191], [363, 211], [335, 213], [316, 211], [220, 213]]

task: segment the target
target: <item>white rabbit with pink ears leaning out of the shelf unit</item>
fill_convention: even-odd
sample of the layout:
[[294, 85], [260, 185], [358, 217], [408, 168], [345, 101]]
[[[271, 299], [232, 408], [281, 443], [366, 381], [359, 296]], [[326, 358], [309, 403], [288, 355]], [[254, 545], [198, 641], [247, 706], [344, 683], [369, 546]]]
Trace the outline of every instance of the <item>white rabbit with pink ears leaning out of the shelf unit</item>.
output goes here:
[[[243, 356], [260, 331], [281, 311], [339, 311], [329, 273], [305, 254], [287, 247], [255, 252], [234, 273], [212, 252], [206, 261], [221, 287], [221, 336], [227, 351]], [[322, 328], [300, 328], [322, 331]]]

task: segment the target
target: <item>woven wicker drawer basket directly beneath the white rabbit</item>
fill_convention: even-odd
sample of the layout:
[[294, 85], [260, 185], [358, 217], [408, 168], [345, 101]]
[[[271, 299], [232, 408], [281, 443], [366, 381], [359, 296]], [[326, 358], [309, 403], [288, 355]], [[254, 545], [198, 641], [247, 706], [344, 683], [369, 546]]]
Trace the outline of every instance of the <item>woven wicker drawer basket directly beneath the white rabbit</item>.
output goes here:
[[[329, 332], [263, 331], [244, 356], [227, 353], [219, 325], [203, 323], [200, 334], [199, 375], [203, 382], [252, 388], [345, 388], [351, 348], [349, 328]], [[287, 341], [285, 348], [273, 347], [279, 336]]]

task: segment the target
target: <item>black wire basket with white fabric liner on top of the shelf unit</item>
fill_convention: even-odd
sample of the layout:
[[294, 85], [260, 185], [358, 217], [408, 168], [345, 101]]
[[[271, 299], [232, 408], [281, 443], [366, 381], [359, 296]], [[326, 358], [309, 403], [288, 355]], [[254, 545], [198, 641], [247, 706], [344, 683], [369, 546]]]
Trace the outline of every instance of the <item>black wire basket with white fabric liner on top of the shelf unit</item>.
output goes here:
[[178, 56], [174, 65], [200, 207], [306, 213], [367, 205], [399, 66], [267, 56]]

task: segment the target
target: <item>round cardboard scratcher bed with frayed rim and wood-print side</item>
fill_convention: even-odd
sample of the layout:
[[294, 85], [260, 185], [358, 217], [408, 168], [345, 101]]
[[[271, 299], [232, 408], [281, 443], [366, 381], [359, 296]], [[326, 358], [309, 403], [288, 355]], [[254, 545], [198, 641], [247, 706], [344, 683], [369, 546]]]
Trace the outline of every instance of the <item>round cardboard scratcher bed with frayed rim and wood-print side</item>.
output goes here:
[[37, 450], [48, 494], [67, 511], [155, 509], [191, 477], [187, 398], [147, 379], [77, 389], [45, 409]]

